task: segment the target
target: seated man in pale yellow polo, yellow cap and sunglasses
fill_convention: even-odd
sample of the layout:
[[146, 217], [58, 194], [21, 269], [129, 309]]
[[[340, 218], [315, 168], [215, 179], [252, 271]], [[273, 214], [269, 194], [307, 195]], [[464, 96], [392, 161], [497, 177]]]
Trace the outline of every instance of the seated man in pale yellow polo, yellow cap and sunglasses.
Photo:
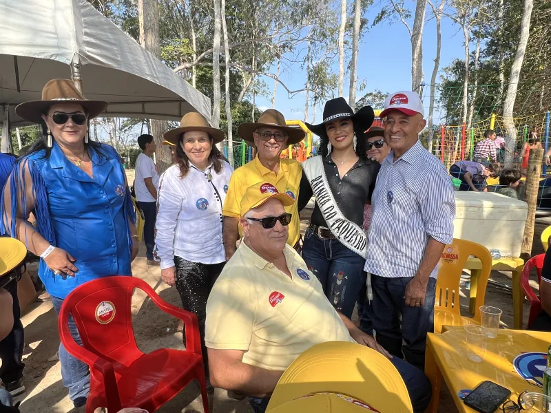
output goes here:
[[360, 343], [391, 359], [402, 375], [413, 410], [430, 401], [421, 370], [392, 358], [370, 335], [337, 313], [318, 278], [289, 246], [285, 207], [293, 198], [269, 182], [258, 182], [240, 202], [245, 237], [218, 277], [207, 301], [205, 343], [211, 384], [251, 396], [264, 412], [284, 370], [318, 343]]

